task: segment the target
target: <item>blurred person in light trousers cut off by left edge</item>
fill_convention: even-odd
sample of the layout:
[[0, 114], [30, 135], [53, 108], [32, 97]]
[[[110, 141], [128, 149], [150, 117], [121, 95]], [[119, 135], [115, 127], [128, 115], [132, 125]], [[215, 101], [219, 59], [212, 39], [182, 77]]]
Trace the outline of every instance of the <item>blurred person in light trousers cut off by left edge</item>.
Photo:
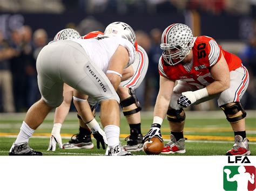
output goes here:
[[3, 33], [0, 32], [0, 92], [4, 112], [15, 112], [14, 96], [12, 93], [12, 74], [10, 71], [10, 58], [16, 52], [4, 41]]

